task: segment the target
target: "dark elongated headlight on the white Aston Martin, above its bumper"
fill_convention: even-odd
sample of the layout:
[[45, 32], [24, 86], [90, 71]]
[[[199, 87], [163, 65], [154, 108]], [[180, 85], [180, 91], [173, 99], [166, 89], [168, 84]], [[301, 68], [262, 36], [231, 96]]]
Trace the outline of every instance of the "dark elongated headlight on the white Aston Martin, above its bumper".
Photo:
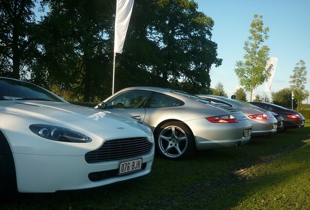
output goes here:
[[38, 136], [55, 141], [74, 142], [74, 143], [89, 143], [92, 138], [78, 131], [48, 124], [32, 124], [29, 129]]

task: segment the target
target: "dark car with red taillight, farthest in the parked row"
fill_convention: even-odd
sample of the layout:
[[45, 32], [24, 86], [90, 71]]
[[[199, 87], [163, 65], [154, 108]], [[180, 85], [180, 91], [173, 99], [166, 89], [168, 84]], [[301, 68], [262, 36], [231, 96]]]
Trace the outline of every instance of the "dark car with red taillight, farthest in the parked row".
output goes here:
[[267, 102], [249, 102], [252, 105], [256, 105], [260, 108], [266, 109], [271, 112], [275, 112], [284, 119], [284, 130], [290, 128], [300, 128], [305, 126], [304, 116], [292, 109], [285, 108], [283, 106], [267, 103]]

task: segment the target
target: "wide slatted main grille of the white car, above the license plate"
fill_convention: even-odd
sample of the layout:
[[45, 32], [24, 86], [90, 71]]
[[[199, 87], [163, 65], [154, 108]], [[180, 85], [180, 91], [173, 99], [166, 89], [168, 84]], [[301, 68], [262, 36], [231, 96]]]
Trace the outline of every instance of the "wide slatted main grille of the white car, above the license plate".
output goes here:
[[99, 149], [86, 153], [85, 160], [96, 163], [142, 156], [149, 153], [152, 146], [146, 138], [108, 140]]

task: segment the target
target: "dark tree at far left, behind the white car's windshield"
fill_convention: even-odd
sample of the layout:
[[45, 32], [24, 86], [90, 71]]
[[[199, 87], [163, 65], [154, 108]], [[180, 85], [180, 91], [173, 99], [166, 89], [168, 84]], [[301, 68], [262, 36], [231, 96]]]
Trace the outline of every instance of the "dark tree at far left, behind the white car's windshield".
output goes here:
[[36, 0], [0, 0], [0, 74], [21, 78], [32, 62]]

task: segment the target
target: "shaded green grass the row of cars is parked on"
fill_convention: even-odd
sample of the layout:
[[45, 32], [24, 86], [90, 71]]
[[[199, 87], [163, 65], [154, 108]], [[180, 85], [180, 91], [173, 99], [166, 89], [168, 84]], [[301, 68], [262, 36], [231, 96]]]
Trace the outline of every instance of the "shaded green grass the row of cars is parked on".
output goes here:
[[155, 157], [149, 175], [96, 189], [19, 194], [1, 210], [308, 210], [310, 123], [241, 147]]

